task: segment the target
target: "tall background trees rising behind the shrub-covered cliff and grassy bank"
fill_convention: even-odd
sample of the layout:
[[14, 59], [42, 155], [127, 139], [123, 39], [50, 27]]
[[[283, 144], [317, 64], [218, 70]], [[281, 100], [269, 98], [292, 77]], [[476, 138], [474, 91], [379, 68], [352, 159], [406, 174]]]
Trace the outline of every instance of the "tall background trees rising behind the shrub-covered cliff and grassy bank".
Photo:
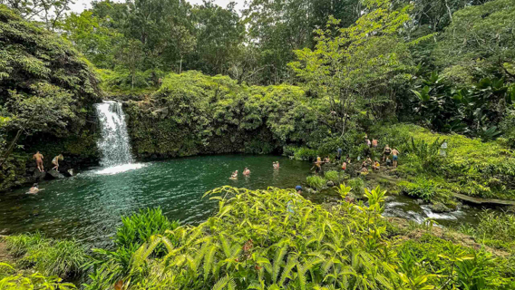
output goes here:
[[94, 0], [66, 14], [70, 1], [0, 0], [68, 39], [112, 88], [186, 70], [299, 84], [342, 136], [394, 116], [493, 139], [515, 120], [511, 0]]

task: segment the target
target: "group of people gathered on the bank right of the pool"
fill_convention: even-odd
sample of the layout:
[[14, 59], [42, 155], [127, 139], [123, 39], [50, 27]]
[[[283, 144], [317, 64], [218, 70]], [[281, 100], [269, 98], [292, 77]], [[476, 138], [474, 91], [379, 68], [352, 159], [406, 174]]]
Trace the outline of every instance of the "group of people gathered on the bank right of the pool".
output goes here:
[[[367, 174], [369, 172], [369, 167], [372, 168], [372, 170], [379, 170], [381, 168], [381, 163], [378, 159], [372, 160], [371, 150], [376, 149], [379, 145], [378, 140], [369, 140], [366, 136], [364, 138], [364, 142], [367, 146], [367, 150], [364, 152], [365, 158], [364, 161], [361, 164], [360, 172], [362, 174]], [[336, 156], [335, 156], [335, 163], [342, 162], [341, 169], [345, 172], [347, 167], [351, 164], [351, 158], [350, 155], [347, 154], [345, 157], [345, 160], [342, 161], [342, 155], [344, 150], [341, 148], [338, 148], [336, 150]], [[382, 152], [383, 155], [383, 162], [386, 166], [393, 166], [394, 169], [397, 168], [397, 161], [399, 160], [399, 154], [400, 151], [397, 149], [392, 149], [388, 144], [384, 146], [384, 150]], [[392, 160], [390, 160], [390, 155], [392, 155]], [[357, 161], [359, 162], [361, 160], [361, 156], [357, 157]], [[329, 156], [327, 156], [324, 160], [320, 158], [320, 156], [316, 157], [315, 166], [312, 169], [315, 169], [316, 174], [319, 173], [322, 170], [322, 164], [324, 163], [330, 163], [331, 160]]]

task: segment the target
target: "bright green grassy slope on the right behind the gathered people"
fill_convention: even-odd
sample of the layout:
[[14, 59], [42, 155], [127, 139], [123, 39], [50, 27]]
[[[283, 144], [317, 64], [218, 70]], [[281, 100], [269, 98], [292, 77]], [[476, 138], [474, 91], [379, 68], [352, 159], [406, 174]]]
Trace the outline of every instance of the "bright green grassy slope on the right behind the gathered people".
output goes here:
[[[403, 162], [396, 174], [414, 182], [404, 187], [408, 191], [416, 188], [433, 192], [425, 190], [429, 189], [426, 186], [429, 182], [441, 198], [449, 197], [452, 192], [483, 198], [515, 198], [512, 187], [515, 156], [505, 140], [483, 142], [457, 134], [432, 133], [407, 124], [377, 127], [374, 136], [378, 136], [381, 144], [401, 151]], [[444, 140], [446, 149], [442, 149]]]

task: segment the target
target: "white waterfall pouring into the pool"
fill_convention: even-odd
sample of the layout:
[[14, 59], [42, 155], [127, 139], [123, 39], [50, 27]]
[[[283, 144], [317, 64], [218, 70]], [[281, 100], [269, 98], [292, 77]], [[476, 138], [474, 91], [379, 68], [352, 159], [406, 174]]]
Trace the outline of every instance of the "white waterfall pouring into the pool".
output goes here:
[[125, 115], [120, 102], [104, 101], [95, 104], [101, 124], [102, 138], [97, 146], [102, 152], [102, 167], [115, 167], [134, 162], [127, 133]]

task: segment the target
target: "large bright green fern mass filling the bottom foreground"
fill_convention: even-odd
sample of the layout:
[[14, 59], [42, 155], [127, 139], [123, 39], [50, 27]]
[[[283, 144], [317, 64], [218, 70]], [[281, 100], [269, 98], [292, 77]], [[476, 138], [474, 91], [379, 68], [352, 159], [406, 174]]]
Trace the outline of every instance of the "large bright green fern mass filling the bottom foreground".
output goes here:
[[[350, 188], [342, 189], [345, 196]], [[151, 237], [123, 266], [102, 260], [87, 289], [510, 289], [497, 258], [438, 241], [432, 264], [415, 245], [387, 238], [384, 191], [365, 190], [369, 206], [330, 211], [290, 190], [224, 187], [206, 194], [219, 212], [197, 227]], [[401, 245], [403, 245], [401, 243]], [[158, 255], [156, 249], [165, 247]], [[405, 255], [410, 252], [413, 255]], [[480, 260], [481, 258], [481, 260]], [[470, 264], [467, 266], [466, 264]], [[475, 272], [461, 275], [470, 266]], [[474, 285], [478, 281], [478, 285]], [[481, 285], [480, 285], [481, 283]], [[484, 286], [484, 287], [481, 287]]]

